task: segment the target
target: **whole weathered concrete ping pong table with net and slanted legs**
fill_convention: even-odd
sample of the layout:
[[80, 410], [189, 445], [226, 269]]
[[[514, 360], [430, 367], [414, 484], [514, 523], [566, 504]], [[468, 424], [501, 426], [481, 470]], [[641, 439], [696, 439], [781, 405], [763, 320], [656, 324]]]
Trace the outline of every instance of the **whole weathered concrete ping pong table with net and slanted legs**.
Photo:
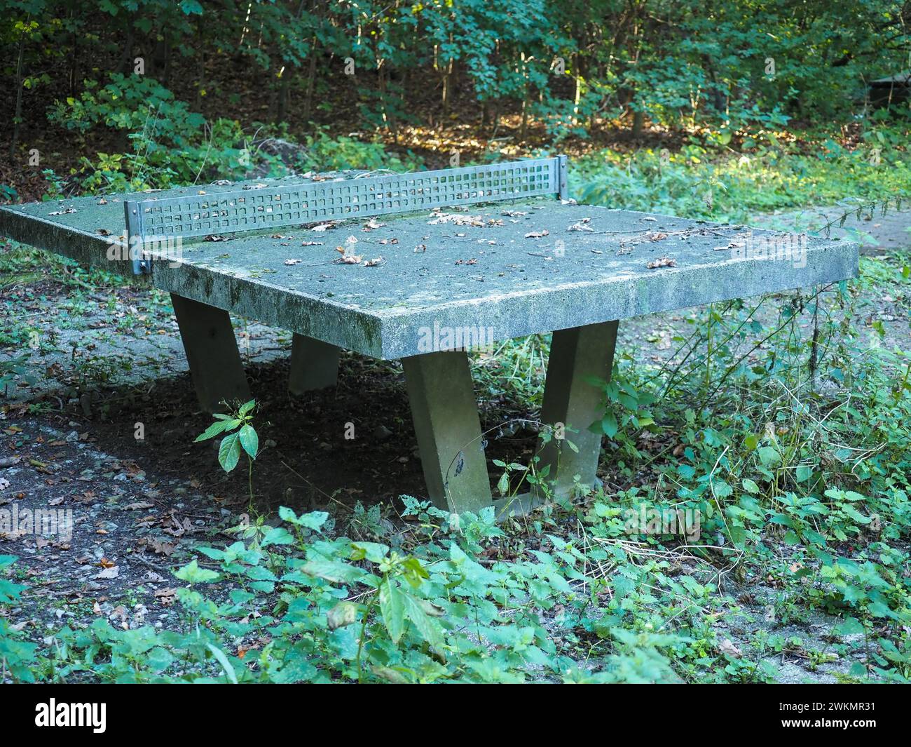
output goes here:
[[342, 348], [401, 359], [427, 491], [462, 512], [499, 504], [470, 344], [554, 333], [541, 420], [576, 448], [539, 467], [566, 493], [596, 481], [619, 319], [857, 274], [856, 244], [567, 197], [557, 156], [8, 205], [0, 234], [168, 291], [210, 412], [250, 398], [229, 312], [294, 333], [293, 393], [333, 386]]

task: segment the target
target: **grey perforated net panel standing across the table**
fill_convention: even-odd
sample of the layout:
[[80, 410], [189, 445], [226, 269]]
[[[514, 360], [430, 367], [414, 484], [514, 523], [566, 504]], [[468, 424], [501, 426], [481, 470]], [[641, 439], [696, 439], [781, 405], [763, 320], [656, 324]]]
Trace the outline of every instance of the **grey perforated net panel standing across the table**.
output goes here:
[[559, 192], [558, 159], [138, 202], [143, 236], [204, 236]]

